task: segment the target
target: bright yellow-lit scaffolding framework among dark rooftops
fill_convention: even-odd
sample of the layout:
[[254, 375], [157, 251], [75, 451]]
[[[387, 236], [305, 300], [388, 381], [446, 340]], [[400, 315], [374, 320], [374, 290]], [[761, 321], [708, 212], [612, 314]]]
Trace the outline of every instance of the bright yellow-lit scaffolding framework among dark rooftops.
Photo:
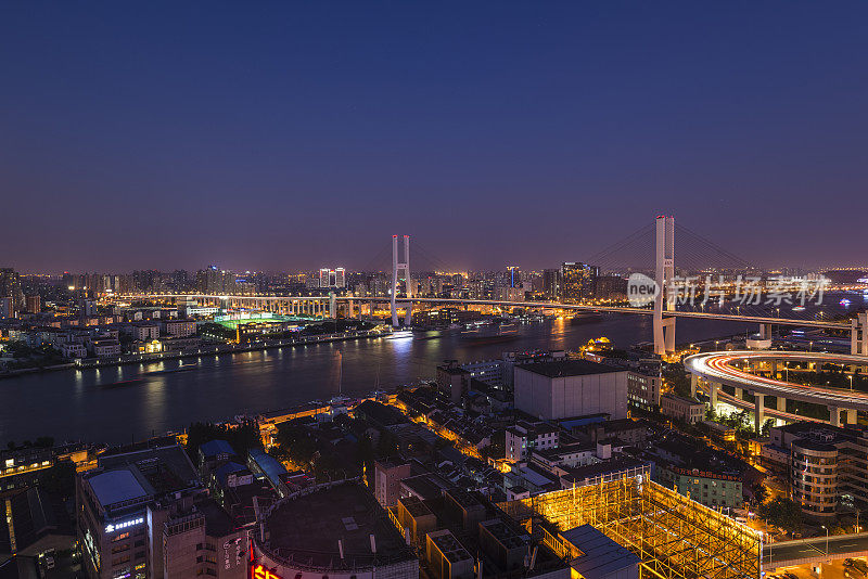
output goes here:
[[[538, 539], [542, 529], [590, 524], [640, 559], [658, 579], [760, 579], [760, 533], [647, 476], [548, 492], [500, 504]], [[557, 535], [557, 533], [556, 533]]]

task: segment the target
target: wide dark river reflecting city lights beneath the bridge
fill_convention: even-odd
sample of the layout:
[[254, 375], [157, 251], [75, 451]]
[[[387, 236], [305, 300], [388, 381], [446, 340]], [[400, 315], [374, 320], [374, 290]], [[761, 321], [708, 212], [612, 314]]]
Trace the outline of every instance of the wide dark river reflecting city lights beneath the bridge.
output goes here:
[[[679, 320], [676, 336], [679, 343], [699, 342], [745, 330], [755, 332], [756, 325]], [[600, 336], [617, 347], [649, 342], [651, 317], [608, 314], [583, 325], [563, 320], [523, 324], [518, 338], [501, 344], [474, 345], [455, 333], [416, 335], [28, 374], [0, 381], [0, 445], [39, 436], [129, 442], [195, 421], [328, 399], [339, 391], [337, 350], [343, 358], [341, 388], [352, 396], [433, 377], [443, 360], [469, 362], [499, 358], [503, 351], [577, 349]], [[181, 363], [196, 368], [153, 374]]]

